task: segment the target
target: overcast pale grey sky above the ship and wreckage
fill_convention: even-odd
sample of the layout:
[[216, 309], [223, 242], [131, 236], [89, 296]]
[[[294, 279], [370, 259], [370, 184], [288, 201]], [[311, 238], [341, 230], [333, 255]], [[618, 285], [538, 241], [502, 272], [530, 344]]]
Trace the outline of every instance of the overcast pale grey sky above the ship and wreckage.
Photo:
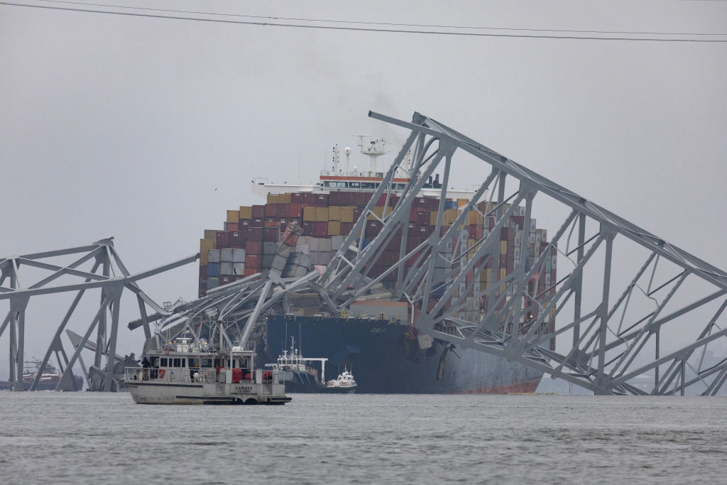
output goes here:
[[[727, 33], [723, 1], [111, 3]], [[0, 5], [0, 66], [2, 256], [108, 236], [132, 272], [193, 254], [226, 209], [260, 202], [252, 177], [313, 178], [332, 144], [355, 144], [353, 133], [406, 137], [368, 119], [373, 110], [400, 119], [425, 113], [727, 268], [724, 43], [366, 33]], [[487, 171], [464, 164], [451, 185], [469, 186]], [[158, 301], [193, 299], [197, 267], [142, 287]], [[26, 356], [40, 356], [65, 308], [34, 311]], [[125, 321], [137, 316], [133, 305], [123, 311]], [[119, 350], [138, 353], [140, 334], [128, 333]]]

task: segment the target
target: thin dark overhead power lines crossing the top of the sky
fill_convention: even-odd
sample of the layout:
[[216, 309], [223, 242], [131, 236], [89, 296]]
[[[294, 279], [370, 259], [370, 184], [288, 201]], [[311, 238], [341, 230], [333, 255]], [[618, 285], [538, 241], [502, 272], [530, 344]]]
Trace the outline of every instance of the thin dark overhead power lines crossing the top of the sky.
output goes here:
[[[122, 5], [111, 5], [111, 4], [92, 4], [86, 2], [77, 1], [63, 1], [63, 0], [41, 0], [47, 1], [48, 3], [55, 4], [72, 4], [85, 7], [105, 7], [105, 8], [119, 8], [119, 9], [132, 9], [143, 12], [166, 12], [167, 14], [185, 14], [180, 15], [158, 15], [155, 13], [141, 13], [141, 12], [118, 12], [113, 10], [102, 10], [102, 9], [87, 9], [77, 7], [60, 7], [57, 5], [39, 5], [39, 4], [23, 4], [11, 1], [0, 1], [1, 5], [9, 5], [14, 7], [28, 7], [37, 9], [51, 9], [51, 10], [65, 10], [68, 12], [84, 12], [84, 13], [95, 13], [104, 15], [125, 15], [129, 17], [147, 17], [147, 18], [160, 18], [164, 20], [190, 20], [197, 22], [212, 22], [212, 23], [230, 23], [240, 25], [257, 25], [257, 26], [270, 26], [270, 27], [287, 27], [287, 28], [313, 28], [321, 30], [334, 30], [334, 31], [358, 31], [358, 32], [378, 32], [378, 33], [410, 33], [410, 34], [425, 34], [425, 35], [443, 35], [443, 36], [470, 36], [470, 37], [509, 37], [518, 39], [566, 39], [566, 40], [594, 40], [594, 41], [650, 41], [650, 42], [707, 42], [707, 43], [726, 43], [727, 39], [704, 39], [704, 36], [727, 36], [723, 33], [662, 33], [662, 32], [634, 32], [634, 31], [575, 31], [575, 30], [558, 30], [558, 29], [532, 29], [532, 28], [505, 28], [505, 27], [474, 27], [474, 26], [463, 26], [463, 25], [428, 25], [428, 24], [406, 24], [406, 23], [380, 23], [380, 22], [359, 22], [353, 20], [329, 20], [329, 19], [306, 19], [306, 18], [294, 18], [294, 17], [271, 17], [261, 15], [240, 15], [240, 14], [225, 14], [215, 12], [195, 12], [188, 10], [174, 10], [174, 9], [154, 9], [149, 7], [126, 7]], [[232, 20], [230, 18], [213, 18], [213, 17], [191, 17], [188, 15], [213, 15], [216, 17], [239, 17], [239, 18], [254, 18], [260, 20], [268, 20], [268, 22], [262, 21], [249, 21], [249, 20]], [[285, 21], [282, 23], [281, 20]], [[449, 28], [449, 29], [461, 29], [461, 30], [491, 30], [491, 31], [510, 31], [510, 32], [553, 32], [553, 33], [601, 33], [601, 34], [616, 34], [618, 36], [577, 36], [577, 35], [545, 35], [544, 33], [491, 33], [491, 32], [462, 32], [462, 31], [424, 31], [418, 29], [409, 28], [376, 28], [376, 27], [354, 27], [354, 26], [343, 26], [343, 25], [310, 25], [302, 23], [289, 23], [289, 22], [315, 22], [315, 23], [337, 23], [337, 24], [358, 24], [358, 25], [385, 25], [391, 27], [419, 27], [419, 28]], [[702, 36], [698, 39], [684, 39], [684, 38], [667, 38], [667, 37], [627, 37], [622, 35], [638, 36], [638, 35], [658, 35], [658, 36]]]

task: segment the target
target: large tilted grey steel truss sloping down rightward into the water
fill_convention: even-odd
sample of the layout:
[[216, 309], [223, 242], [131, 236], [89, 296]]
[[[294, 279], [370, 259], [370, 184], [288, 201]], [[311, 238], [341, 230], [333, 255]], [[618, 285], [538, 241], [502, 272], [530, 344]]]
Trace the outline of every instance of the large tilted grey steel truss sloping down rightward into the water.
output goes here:
[[[369, 116], [411, 130], [405, 149], [408, 149], [411, 145], [417, 147], [414, 157], [414, 177], [411, 177], [410, 183], [393, 212], [390, 215], [384, 215], [382, 218], [383, 228], [379, 236], [371, 241], [363, 251], [356, 252], [352, 261], [346, 256], [349, 245], [356, 239], [352, 232], [352, 235], [346, 240], [345, 246], [340, 249], [337, 257], [334, 258], [328, 270], [326, 270], [324, 277], [321, 278], [321, 283], [329, 290], [334, 305], [338, 305], [339, 309], [345, 308], [357, 296], [365, 294], [367, 289], [381, 281], [384, 276], [395, 271], [397, 274], [394, 288], [396, 296], [401, 300], [406, 299], [411, 302], [412, 306], [418, 305], [418, 315], [414, 324], [419, 332], [429, 333], [443, 342], [451, 342], [467, 348], [476, 348], [512, 361], [520, 361], [523, 364], [534, 366], [542, 370], [542, 372], [551, 374], [553, 377], [562, 377], [598, 394], [684, 393], [689, 385], [697, 383], [702, 384], [704, 393], [714, 394], [727, 380], [727, 363], [725, 361], [722, 361], [722, 364], [702, 367], [707, 345], [725, 337], [725, 332], [721, 329], [722, 327], [718, 326], [716, 321], [722, 315], [727, 300], [723, 302], [723, 305], [710, 320], [710, 324], [704, 327], [696, 340], [680, 342], [678, 350], [671, 350], [665, 355], [663, 345], [659, 343], [659, 334], [664, 324], [673, 322], [676, 325], [684, 325], [683, 321], [686, 318], [683, 317], [694, 318], [694, 310], [698, 310], [702, 305], [723, 296], [727, 291], [727, 273], [723, 270], [715, 268], [693, 254], [689, 254], [685, 250], [654, 236], [654, 234], [648, 233], [643, 228], [639, 228], [637, 225], [624, 220], [597, 204], [593, 204], [586, 198], [553, 183], [553, 181], [547, 180], [547, 178], [532, 172], [526, 167], [516, 164], [505, 156], [465, 137], [438, 121], [429, 119], [419, 113], [414, 113], [411, 123], [378, 113], [370, 112]], [[430, 137], [429, 140], [426, 140], [426, 137]], [[438, 141], [438, 150], [427, 158], [427, 150], [433, 148], [435, 141]], [[452, 154], [457, 149], [470, 153], [491, 166], [491, 175], [483, 184], [483, 187], [489, 188], [490, 183], [497, 178], [498, 207], [489, 213], [489, 215], [495, 217], [494, 229], [478, 242], [474, 253], [463, 260], [460, 268], [451, 268], [435, 275], [433, 269], [438, 258], [442, 257], [438, 251], [441, 250], [439, 244], [443, 243], [443, 239], [438, 239], [438, 236], [433, 235], [414, 251], [406, 251], [406, 242], [403, 242], [399, 251], [401, 260], [395, 265], [391, 265], [385, 273], [377, 278], [367, 279], [366, 275], [370, 268], [369, 262], [377, 260], [383, 246], [389, 243], [389, 236], [403, 225], [404, 218], [408, 217], [411, 199], [417, 196], [423, 180], [426, 180], [428, 175], [440, 166], [443, 159], [446, 160], [443, 177], [444, 180], [447, 180], [451, 168]], [[402, 157], [403, 153], [400, 152], [390, 171], [387, 172], [387, 177], [393, 176], [393, 171], [401, 163]], [[422, 168], [425, 170], [419, 172]], [[417, 177], [419, 174], [420, 177]], [[510, 196], [510, 199], [514, 198], [514, 200], [512, 200], [509, 209], [502, 207], [506, 200], [505, 179], [507, 177], [510, 180], [516, 180], [520, 184], [518, 193]], [[387, 178], [385, 178], [385, 183], [382, 183], [378, 191], [374, 193], [374, 197], [371, 199], [369, 206], [366, 207], [359, 223], [366, 219], [367, 215], [371, 213], [375, 201], [385, 193], [388, 193]], [[466, 209], [472, 208], [478, 202], [482, 193], [478, 191], [477, 195], [467, 204]], [[494, 193], [494, 188], [492, 193]], [[561, 230], [558, 231], [558, 234], [550, 241], [547, 249], [535, 261], [530, 261], [529, 256], [524, 255], [521, 262], [516, 265], [513, 273], [502, 281], [497, 281], [497, 284], [505, 286], [505, 291], [513, 296], [508, 296], [505, 299], [506, 302], [502, 302], [504, 293], [498, 293], [497, 289], [489, 288], [478, 291], [473, 288], [473, 284], [465, 284], [465, 275], [469, 271], [478, 268], [478, 260], [494, 261], [494, 264], [492, 264], [493, 273], [498, 268], [499, 254], [492, 250], [494, 249], [493, 246], [499, 241], [499, 231], [503, 227], [503, 223], [507, 221], [513, 212], [513, 208], [523, 200], [526, 202], [526, 222], [523, 228], [521, 252], [524, 252], [526, 241], [529, 240], [531, 234], [529, 223], [536, 194], [541, 195], [539, 199], [547, 197], [550, 201], [569, 207], [571, 212], [564, 221]], [[443, 200], [445, 197], [446, 184], [442, 190], [441, 199]], [[489, 204], [487, 207], [489, 207]], [[397, 211], [397, 209], [400, 210]], [[440, 204], [436, 221], [437, 228], [441, 225], [441, 212]], [[464, 216], [464, 212], [462, 216]], [[459, 223], [462, 223], [462, 220], [459, 219], [451, 225], [448, 234], [451, 231], [456, 231]], [[587, 235], [587, 224], [597, 225], [598, 232]], [[577, 252], [577, 260], [574, 262], [573, 269], [560, 281], [554, 282], [545, 292], [528, 294], [526, 291], [527, 282], [531, 277], [539, 275], [539, 272], [545, 267], [545, 258], [550, 257], [551, 248], [556, 247], [559, 242], [562, 244], [566, 240], [566, 231], [571, 228], [572, 233], [576, 227], [578, 227], [577, 246], [571, 251], [566, 247], [566, 253], [564, 254], [566, 259], [570, 259], [568, 256], [573, 252]], [[355, 232], [358, 233], [356, 230]], [[406, 236], [402, 236], [405, 241]], [[569, 233], [567, 236], [568, 244], [570, 243], [570, 236]], [[362, 241], [362, 238], [363, 234], [358, 236], [359, 241]], [[611, 281], [611, 267], [616, 257], [614, 254], [615, 239], [630, 241], [630, 243], [635, 243], [648, 252], [643, 267], [637, 271], [636, 276], [622, 291], [614, 286], [615, 283]], [[424, 246], [423, 249], [422, 246]], [[361, 246], [359, 245], [359, 247]], [[604, 247], [605, 249], [603, 249]], [[599, 249], [601, 249], [601, 253], [605, 253], [602, 259], [595, 257]], [[413, 259], [417, 252], [419, 255], [416, 262], [407, 268], [405, 263]], [[679, 273], [653, 284], [659, 258], [674, 265]], [[583, 284], [584, 272], [592, 270], [594, 265], [600, 264], [598, 263], [600, 260], [603, 261], [603, 266], [599, 270], [603, 274], [603, 281], [600, 284], [601, 294], [596, 305], [586, 310], [584, 314], [586, 291]], [[632, 293], [635, 289], [641, 289], [643, 282], [640, 278], [649, 268], [652, 270], [651, 279], [648, 281], [648, 291], [644, 292], [644, 294], [656, 301], [656, 308], [647, 313], [646, 316], [641, 318], [630, 317], [630, 320], [626, 318], [626, 312], [632, 300]], [[665, 308], [669, 307], [672, 297], [675, 297], [675, 294], [686, 286], [685, 282], [688, 277], [706, 281], [710, 285], [716, 286], [717, 291], [664, 315], [666, 313]], [[351, 284], [361, 281], [363, 283], [358, 284], [358, 286], [355, 285], [353, 293], [350, 293], [347, 297], [342, 297], [343, 292]], [[495, 281], [495, 278], [492, 278], [492, 281]], [[432, 298], [433, 291], [442, 288], [444, 288], [443, 294], [438, 294], [434, 298], [435, 302], [430, 305], [429, 300]], [[460, 292], [464, 289], [465, 294], [454, 297], [454, 291], [457, 288], [460, 288]], [[620, 297], [616, 302], [611, 302], [613, 290], [619, 290], [620, 293]], [[654, 295], [659, 294], [659, 292], [665, 295], [656, 300]], [[489, 298], [489, 308], [486, 313], [475, 321], [465, 321], [462, 318], [451, 316], [450, 310], [463, 308], [470, 295]], [[571, 299], [571, 297], [573, 298]], [[525, 304], [526, 299], [529, 300], [528, 305]], [[566, 321], [556, 329], [553, 326], [555, 316], [560, 314], [562, 317], [562, 311], [568, 304], [574, 306], [574, 317], [571, 321]], [[502, 308], [497, 308], [500, 305], [502, 305]], [[449, 310], [446, 310], [448, 307]], [[536, 307], [540, 310], [539, 316], [531, 321], [526, 321], [526, 313], [529, 313], [526, 310]], [[619, 310], [622, 311], [622, 315], [620, 318], [614, 318], [614, 314]], [[624, 320], [624, 318], [626, 319]], [[615, 329], [615, 320], [618, 320], [617, 329]], [[441, 329], [443, 324], [454, 327], [456, 331], [453, 333], [443, 332]], [[586, 326], [582, 328], [582, 324]], [[565, 353], [556, 353], [548, 348], [547, 344], [551, 340], [556, 337], [565, 337], [569, 333], [572, 334], [572, 339], [566, 343], [567, 350]], [[651, 351], [652, 356], [648, 356], [648, 353], [644, 350], [647, 342], [655, 344], [654, 350]], [[558, 340], [558, 345], [563, 345], [562, 339]], [[702, 352], [702, 359], [700, 359], [698, 368], [693, 369], [692, 373], [694, 375], [688, 377], [686, 369], [691, 364], [687, 362], [687, 359], [697, 351]], [[645, 359], [649, 360], [649, 362], [643, 364]], [[636, 361], [640, 363], [638, 366], [634, 364]], [[670, 367], [661, 379], [659, 379], [660, 366]], [[641, 388], [630, 382], [630, 380], [643, 377], [650, 372], [654, 372], [656, 376], [653, 388], [643, 390], [643, 382]], [[673, 388], [670, 386], [672, 382], [677, 382]]]

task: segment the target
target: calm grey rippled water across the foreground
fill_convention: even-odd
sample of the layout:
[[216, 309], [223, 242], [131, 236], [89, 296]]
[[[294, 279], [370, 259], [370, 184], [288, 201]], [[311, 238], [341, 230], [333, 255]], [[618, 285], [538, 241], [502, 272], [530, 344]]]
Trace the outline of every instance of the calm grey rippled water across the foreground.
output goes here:
[[0, 392], [0, 482], [727, 482], [727, 398], [292, 396]]

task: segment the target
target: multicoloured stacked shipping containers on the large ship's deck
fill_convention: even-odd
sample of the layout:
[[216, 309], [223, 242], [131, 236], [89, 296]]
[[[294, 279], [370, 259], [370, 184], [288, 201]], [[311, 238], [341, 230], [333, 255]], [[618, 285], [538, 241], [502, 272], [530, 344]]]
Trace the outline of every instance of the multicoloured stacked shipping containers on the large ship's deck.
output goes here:
[[[286, 262], [283, 276], [303, 276], [313, 265], [327, 265], [333, 255], [340, 248], [345, 236], [353, 229], [353, 223], [361, 217], [366, 204], [369, 203], [371, 192], [332, 191], [331, 193], [284, 193], [268, 194], [267, 204], [252, 207], [239, 207], [237, 210], [228, 210], [227, 220], [222, 231], [206, 230], [204, 239], [200, 241], [200, 267], [199, 267], [199, 295], [204, 296], [207, 290], [222, 284], [228, 284], [238, 279], [260, 273], [270, 268], [281, 235], [288, 225], [298, 225], [302, 228], [302, 236], [297, 241], [297, 247]], [[377, 217], [387, 215], [398, 202], [398, 196], [382, 196], [374, 207], [374, 215], [369, 215], [364, 227], [363, 244], [369, 244], [379, 231], [382, 223]], [[411, 207], [409, 226], [406, 228], [406, 246], [408, 251], [414, 250], [422, 244], [433, 231], [438, 215], [439, 199], [433, 197], [417, 197]], [[445, 210], [441, 228], [441, 235], [446, 232], [461, 211], [458, 207], [467, 204], [466, 199], [452, 201], [446, 199]], [[472, 210], [467, 215], [467, 225], [447, 241], [447, 253], [462, 256], [460, 260], [466, 261], [467, 254], [477, 242], [487, 236], [494, 228], [494, 217], [488, 215], [495, 202], [487, 207], [486, 202], [478, 204], [478, 210]], [[505, 209], [509, 206], [505, 204]], [[500, 250], [497, 260], [488, 262], [478, 274], [467, 275], [467, 282], [477, 281], [480, 289], [485, 289], [494, 281], [502, 279], [515, 268], [516, 263], [523, 257], [521, 253], [525, 208], [515, 209], [515, 215], [505, 223], [500, 233]], [[530, 239], [526, 244], [531, 261], [547, 248], [547, 233], [538, 229], [536, 221], [531, 220]], [[382, 274], [393, 263], [398, 261], [401, 246], [401, 231], [391, 239], [379, 259], [371, 266], [369, 276], [376, 277]], [[447, 256], [449, 256], [447, 254]], [[449, 258], [451, 260], [451, 258]], [[416, 255], [409, 258], [407, 265], [414, 265]], [[529, 281], [528, 293], [540, 295], [555, 291], [551, 286], [555, 284], [556, 249], [552, 249], [544, 270]], [[441, 264], [437, 263], [438, 267]], [[492, 270], [493, 265], [496, 270]], [[387, 275], [384, 281], [393, 281], [395, 272]], [[476, 278], [476, 279], [475, 279]], [[501, 285], [502, 292], [507, 292]], [[462, 291], [465, 284], [462, 284]], [[459, 296], [459, 289], [454, 296]], [[463, 295], [468, 296], [468, 295]], [[506, 294], [499, 306], [505, 304], [511, 295]], [[524, 307], [530, 312], [526, 320], [537, 316], [537, 305], [530, 305], [526, 301]], [[465, 310], [459, 311], [462, 318], [476, 318], [481, 309], [486, 309], [486, 299], [475, 299], [467, 302]]]

